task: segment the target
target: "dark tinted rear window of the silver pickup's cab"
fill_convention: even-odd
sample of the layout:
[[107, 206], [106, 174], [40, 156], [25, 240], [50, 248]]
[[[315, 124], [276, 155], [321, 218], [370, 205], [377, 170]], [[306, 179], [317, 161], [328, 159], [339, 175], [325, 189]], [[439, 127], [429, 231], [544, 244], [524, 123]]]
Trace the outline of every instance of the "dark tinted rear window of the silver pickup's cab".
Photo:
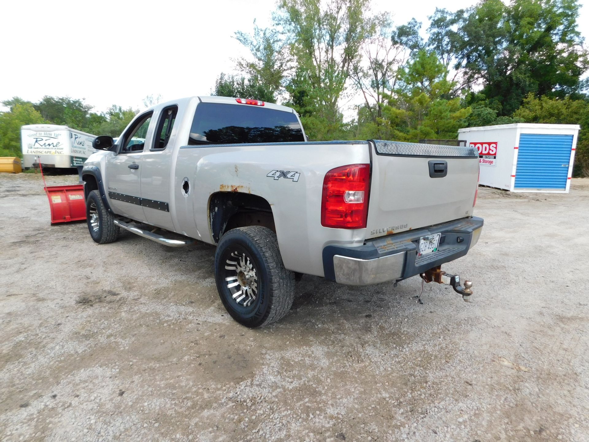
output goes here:
[[243, 104], [199, 103], [188, 144], [305, 141], [292, 112]]

